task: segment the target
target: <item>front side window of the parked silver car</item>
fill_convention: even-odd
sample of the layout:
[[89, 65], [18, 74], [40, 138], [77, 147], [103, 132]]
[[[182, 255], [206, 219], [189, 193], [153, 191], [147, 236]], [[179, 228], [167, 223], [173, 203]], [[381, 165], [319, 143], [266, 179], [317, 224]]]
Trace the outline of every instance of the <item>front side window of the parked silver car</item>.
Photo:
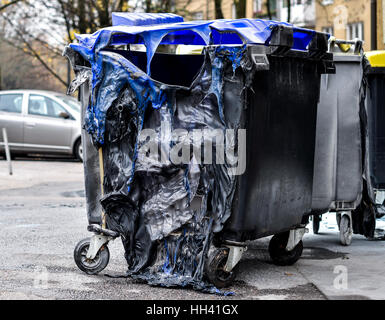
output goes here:
[[38, 116], [46, 116], [53, 118], [60, 118], [60, 113], [66, 112], [66, 110], [54, 100], [37, 95], [31, 94], [28, 99], [28, 113]]

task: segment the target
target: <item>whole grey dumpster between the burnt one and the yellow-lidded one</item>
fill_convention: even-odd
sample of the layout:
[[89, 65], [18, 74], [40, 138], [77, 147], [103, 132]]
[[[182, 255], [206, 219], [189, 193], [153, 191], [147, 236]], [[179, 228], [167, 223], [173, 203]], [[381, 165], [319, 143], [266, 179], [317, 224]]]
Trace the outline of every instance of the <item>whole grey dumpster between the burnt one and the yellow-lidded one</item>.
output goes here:
[[341, 243], [349, 245], [353, 234], [351, 211], [360, 204], [363, 190], [364, 56], [360, 40], [333, 38], [329, 41], [336, 73], [321, 78], [312, 197], [313, 231], [318, 233], [320, 214], [335, 211]]

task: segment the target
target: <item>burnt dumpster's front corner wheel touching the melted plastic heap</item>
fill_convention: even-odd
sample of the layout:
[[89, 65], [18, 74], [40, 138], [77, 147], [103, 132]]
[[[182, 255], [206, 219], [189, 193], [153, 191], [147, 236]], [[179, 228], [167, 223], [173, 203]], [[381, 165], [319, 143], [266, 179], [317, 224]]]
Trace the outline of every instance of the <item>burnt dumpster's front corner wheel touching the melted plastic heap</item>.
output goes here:
[[228, 248], [215, 250], [207, 259], [206, 275], [217, 288], [225, 288], [232, 284], [236, 276], [237, 266], [230, 272], [224, 270], [229, 254]]

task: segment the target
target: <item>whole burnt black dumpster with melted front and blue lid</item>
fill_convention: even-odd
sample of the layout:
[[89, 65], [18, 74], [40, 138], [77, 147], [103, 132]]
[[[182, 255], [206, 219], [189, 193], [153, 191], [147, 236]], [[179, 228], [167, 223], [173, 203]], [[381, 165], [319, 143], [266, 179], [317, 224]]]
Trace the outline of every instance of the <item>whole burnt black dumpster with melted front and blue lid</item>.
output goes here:
[[[100, 272], [108, 241], [120, 236], [127, 276], [219, 292], [207, 280], [231, 283], [245, 240], [277, 234], [273, 260], [300, 257], [320, 75], [334, 69], [326, 34], [275, 21], [179, 19], [115, 15], [118, 25], [78, 35], [65, 50], [76, 72], [69, 91], [80, 87], [83, 103], [94, 232], [75, 261]], [[175, 55], [159, 45], [204, 50]]]

